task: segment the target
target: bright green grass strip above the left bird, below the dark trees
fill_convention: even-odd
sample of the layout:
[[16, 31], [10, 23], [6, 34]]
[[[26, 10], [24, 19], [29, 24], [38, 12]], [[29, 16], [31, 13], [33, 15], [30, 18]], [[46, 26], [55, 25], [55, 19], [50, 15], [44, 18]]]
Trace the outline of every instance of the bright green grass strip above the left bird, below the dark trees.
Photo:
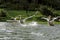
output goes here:
[[18, 16], [18, 15], [27, 16], [27, 15], [34, 14], [34, 11], [30, 11], [26, 13], [25, 10], [8, 10], [8, 14], [12, 17]]

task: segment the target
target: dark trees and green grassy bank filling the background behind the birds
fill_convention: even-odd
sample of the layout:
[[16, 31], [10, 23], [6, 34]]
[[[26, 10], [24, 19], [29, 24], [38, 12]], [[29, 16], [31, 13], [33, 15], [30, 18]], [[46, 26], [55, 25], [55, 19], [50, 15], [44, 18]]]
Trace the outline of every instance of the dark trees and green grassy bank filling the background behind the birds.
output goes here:
[[60, 0], [0, 0], [0, 21], [6, 21], [11, 17], [22, 15], [22, 18], [32, 16], [39, 11], [36, 16], [27, 21], [45, 22], [42, 17], [60, 16]]

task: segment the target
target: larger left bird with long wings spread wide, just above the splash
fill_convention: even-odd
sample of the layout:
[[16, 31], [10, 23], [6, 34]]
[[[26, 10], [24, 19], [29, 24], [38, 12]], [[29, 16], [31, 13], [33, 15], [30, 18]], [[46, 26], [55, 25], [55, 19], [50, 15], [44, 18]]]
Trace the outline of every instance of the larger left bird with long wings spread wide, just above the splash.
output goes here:
[[[15, 17], [15, 18], [12, 17], [12, 18], [11, 18], [12, 20], [7, 20], [7, 21], [19, 22], [19, 23], [21, 23], [21, 24], [24, 24], [27, 19], [32, 18], [32, 17], [35, 16], [37, 13], [38, 13], [38, 11], [36, 11], [36, 13], [35, 13], [34, 15], [29, 16], [29, 17], [24, 18], [24, 19], [22, 19], [21, 15], [19, 15], [19, 16]], [[19, 18], [19, 20], [17, 20], [17, 18]]]

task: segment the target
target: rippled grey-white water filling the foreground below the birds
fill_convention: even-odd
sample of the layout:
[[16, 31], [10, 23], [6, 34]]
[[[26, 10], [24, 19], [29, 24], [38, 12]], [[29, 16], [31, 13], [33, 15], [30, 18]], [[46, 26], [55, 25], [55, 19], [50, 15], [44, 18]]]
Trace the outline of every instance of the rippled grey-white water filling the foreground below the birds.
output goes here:
[[60, 40], [60, 25], [0, 22], [0, 40]]

